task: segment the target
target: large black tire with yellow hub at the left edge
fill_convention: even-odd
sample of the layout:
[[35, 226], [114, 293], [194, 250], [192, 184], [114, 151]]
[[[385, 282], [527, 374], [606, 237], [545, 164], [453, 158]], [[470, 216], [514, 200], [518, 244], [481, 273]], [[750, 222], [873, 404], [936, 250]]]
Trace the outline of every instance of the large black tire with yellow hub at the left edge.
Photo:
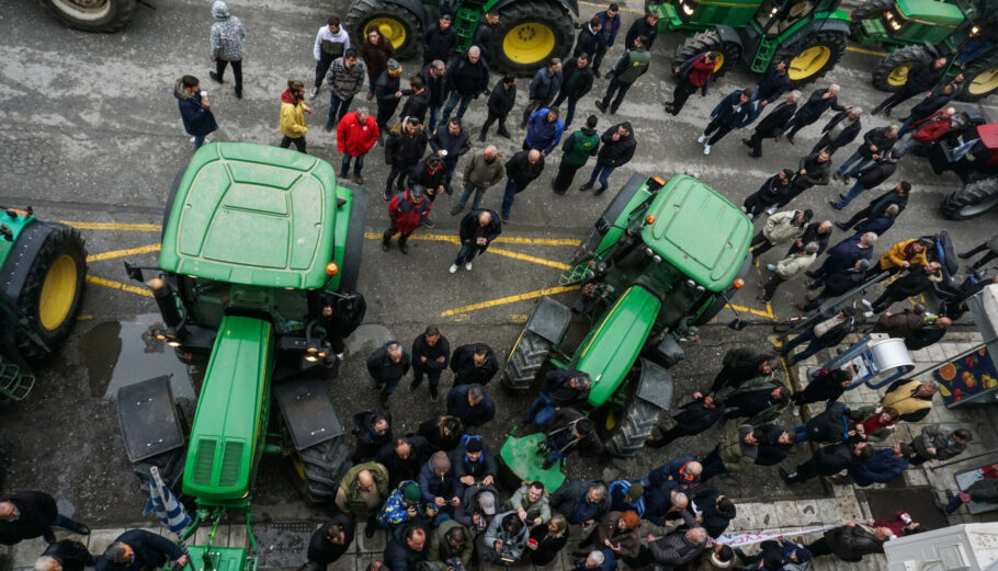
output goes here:
[[[41, 247], [34, 244], [41, 241]], [[60, 224], [36, 221], [25, 228], [14, 244], [14, 252], [8, 258], [3, 290], [16, 300], [18, 309], [27, 319], [48, 349], [55, 351], [69, 335], [76, 323], [76, 315], [83, 297], [83, 279], [87, 275], [87, 251], [83, 238], [76, 228]], [[20, 250], [20, 252], [18, 251]], [[27, 276], [20, 292], [11, 292], [11, 278], [15, 269], [10, 266], [15, 256], [25, 258], [18, 264], [30, 264]], [[48, 356], [44, 347], [37, 346], [26, 335], [19, 335], [21, 355], [27, 359]]]

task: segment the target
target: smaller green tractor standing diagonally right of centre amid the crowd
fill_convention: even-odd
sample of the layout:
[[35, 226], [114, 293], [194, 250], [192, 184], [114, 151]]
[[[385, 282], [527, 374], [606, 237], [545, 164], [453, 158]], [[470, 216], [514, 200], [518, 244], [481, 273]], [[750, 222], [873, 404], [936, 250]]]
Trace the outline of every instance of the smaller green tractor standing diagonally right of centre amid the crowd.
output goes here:
[[[581, 295], [571, 309], [541, 298], [510, 352], [502, 384], [530, 391], [545, 364], [589, 374], [590, 415], [609, 450], [634, 455], [659, 411], [670, 407], [667, 369], [682, 359], [679, 342], [695, 335], [744, 284], [751, 239], [752, 222], [741, 209], [699, 180], [632, 175], [563, 275], [563, 285], [582, 284]], [[591, 324], [574, 350], [566, 346], [572, 312]], [[500, 452], [513, 473], [560, 482], [524, 448], [508, 441]]]

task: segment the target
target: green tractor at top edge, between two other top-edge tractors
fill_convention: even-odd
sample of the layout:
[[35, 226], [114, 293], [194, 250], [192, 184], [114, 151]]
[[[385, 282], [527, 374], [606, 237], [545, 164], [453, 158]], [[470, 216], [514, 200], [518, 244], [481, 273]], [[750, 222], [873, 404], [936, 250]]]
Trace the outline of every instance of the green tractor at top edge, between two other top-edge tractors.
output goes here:
[[739, 60], [762, 73], [772, 61], [787, 62], [794, 87], [815, 81], [846, 54], [849, 14], [841, 0], [646, 0], [658, 12], [660, 34], [692, 33], [676, 48], [673, 70], [703, 52], [717, 52], [715, 72], [723, 75]]

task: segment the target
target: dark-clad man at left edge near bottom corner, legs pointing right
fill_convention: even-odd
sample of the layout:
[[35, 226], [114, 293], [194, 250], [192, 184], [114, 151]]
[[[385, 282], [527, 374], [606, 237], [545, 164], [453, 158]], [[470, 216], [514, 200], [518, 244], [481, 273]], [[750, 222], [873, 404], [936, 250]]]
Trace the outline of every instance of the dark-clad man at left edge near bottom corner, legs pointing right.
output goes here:
[[14, 545], [42, 537], [55, 543], [53, 526], [90, 535], [90, 528], [59, 513], [56, 501], [45, 492], [13, 492], [0, 499], [0, 545]]

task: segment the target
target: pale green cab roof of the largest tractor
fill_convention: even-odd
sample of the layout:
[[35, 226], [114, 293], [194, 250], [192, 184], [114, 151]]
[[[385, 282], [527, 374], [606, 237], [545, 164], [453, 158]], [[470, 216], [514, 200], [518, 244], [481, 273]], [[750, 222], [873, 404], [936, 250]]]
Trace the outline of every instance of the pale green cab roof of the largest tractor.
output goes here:
[[326, 161], [266, 145], [213, 142], [180, 179], [159, 265], [219, 282], [321, 287], [336, 216], [336, 175]]

